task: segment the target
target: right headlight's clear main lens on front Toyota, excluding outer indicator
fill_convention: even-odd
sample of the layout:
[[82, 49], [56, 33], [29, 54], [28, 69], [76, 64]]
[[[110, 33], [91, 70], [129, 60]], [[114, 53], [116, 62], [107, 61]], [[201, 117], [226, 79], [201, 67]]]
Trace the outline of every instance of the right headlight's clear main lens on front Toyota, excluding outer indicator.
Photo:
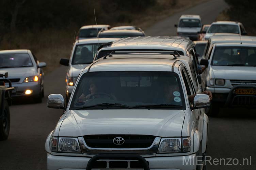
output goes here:
[[176, 153], [181, 152], [180, 138], [162, 138], [158, 153]]

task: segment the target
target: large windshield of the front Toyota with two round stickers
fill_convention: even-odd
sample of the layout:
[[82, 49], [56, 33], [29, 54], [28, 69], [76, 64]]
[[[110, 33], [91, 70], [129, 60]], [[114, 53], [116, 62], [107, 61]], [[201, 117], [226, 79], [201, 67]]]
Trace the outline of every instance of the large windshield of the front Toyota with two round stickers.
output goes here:
[[[165, 109], [182, 109], [183, 93], [178, 75], [156, 71], [89, 72], [82, 75], [75, 89], [71, 109], [109, 104], [130, 108], [164, 105]], [[145, 106], [146, 107], [146, 106]], [[94, 108], [94, 107], [92, 107]], [[115, 107], [116, 108], [116, 107]], [[154, 107], [155, 108], [155, 107]], [[155, 109], [161, 109], [162, 106]]]

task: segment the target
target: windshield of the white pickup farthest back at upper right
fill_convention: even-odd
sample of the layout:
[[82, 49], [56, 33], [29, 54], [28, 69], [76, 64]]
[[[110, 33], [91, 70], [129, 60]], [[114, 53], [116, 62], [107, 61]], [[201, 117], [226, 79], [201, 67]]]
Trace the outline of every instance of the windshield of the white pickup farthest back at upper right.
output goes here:
[[230, 24], [213, 24], [207, 33], [234, 33], [239, 34], [239, 27]]

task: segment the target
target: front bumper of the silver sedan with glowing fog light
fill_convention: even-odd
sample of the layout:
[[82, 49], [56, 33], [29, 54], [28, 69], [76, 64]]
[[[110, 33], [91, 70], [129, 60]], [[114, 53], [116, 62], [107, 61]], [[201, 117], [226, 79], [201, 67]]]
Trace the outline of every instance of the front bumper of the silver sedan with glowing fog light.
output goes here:
[[[12, 86], [15, 88], [15, 90], [11, 92], [12, 97], [39, 96], [41, 93], [41, 84], [39, 81], [19, 84], [12, 83]], [[32, 90], [32, 93], [30, 95], [26, 95], [26, 90]]]

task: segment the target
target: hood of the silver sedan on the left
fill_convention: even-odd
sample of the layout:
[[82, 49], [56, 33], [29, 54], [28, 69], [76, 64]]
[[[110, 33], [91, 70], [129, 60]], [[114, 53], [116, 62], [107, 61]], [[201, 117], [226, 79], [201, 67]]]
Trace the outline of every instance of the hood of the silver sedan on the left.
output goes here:
[[1, 74], [8, 72], [8, 79], [26, 78], [35, 75], [34, 67], [0, 68]]

